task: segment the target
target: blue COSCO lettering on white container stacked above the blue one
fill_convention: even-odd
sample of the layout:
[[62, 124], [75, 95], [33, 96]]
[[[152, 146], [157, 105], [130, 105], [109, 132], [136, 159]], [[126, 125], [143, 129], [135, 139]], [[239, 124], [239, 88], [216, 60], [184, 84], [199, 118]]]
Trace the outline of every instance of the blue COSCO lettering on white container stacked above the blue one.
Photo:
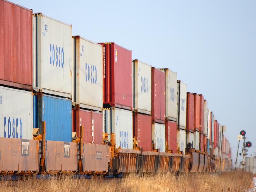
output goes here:
[[57, 45], [50, 44], [50, 65], [56, 64], [56, 67], [64, 67], [64, 49]]

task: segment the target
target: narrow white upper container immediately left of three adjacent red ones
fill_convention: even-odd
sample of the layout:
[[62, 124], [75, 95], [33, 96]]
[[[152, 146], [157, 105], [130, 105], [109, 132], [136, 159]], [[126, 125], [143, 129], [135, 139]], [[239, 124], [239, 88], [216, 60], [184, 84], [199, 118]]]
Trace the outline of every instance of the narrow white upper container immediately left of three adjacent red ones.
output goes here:
[[187, 84], [181, 82], [180, 80], [177, 80], [177, 84], [177, 127], [179, 129], [186, 129]]

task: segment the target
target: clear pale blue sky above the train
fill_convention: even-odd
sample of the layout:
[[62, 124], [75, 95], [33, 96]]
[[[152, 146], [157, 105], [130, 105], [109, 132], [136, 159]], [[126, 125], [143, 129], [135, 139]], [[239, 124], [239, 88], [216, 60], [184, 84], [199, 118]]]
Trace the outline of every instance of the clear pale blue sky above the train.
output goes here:
[[72, 24], [73, 35], [116, 42], [133, 59], [177, 72], [227, 126], [233, 162], [241, 129], [256, 146], [256, 1], [12, 1]]

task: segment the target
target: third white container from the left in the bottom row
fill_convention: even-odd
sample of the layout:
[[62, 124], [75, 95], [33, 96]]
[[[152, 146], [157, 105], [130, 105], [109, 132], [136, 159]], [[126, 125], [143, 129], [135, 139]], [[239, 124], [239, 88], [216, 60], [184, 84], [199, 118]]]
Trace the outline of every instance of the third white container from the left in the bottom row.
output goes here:
[[152, 139], [155, 148], [159, 152], [165, 152], [165, 125], [159, 123], [152, 124]]

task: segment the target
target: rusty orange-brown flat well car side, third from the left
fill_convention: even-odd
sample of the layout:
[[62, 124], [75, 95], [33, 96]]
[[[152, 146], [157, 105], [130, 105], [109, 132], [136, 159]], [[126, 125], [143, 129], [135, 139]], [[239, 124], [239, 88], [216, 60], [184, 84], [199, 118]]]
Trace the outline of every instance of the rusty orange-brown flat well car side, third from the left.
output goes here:
[[109, 146], [95, 143], [83, 143], [83, 145], [83, 172], [108, 172], [108, 164], [110, 162]]

